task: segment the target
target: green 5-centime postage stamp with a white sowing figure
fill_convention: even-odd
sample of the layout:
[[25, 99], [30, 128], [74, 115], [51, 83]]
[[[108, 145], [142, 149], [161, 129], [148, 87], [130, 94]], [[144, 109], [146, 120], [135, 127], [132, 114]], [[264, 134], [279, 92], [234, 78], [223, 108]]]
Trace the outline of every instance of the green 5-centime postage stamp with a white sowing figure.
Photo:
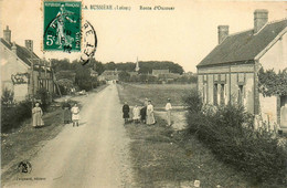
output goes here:
[[44, 1], [44, 51], [81, 51], [81, 2]]

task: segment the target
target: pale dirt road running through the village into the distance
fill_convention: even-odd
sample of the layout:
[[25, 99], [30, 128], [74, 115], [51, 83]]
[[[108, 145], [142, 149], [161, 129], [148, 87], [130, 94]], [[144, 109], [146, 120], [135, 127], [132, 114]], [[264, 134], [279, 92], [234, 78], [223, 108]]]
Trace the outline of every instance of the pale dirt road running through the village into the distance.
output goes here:
[[134, 187], [116, 85], [76, 100], [79, 126], [65, 125], [30, 161], [32, 171], [18, 173], [4, 187]]

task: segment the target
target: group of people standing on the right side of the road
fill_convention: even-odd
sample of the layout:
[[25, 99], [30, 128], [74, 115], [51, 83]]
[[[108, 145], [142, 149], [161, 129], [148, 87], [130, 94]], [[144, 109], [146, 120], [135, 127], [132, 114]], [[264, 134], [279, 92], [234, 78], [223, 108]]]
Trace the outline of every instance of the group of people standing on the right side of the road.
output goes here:
[[[168, 98], [168, 103], [166, 105], [168, 126], [171, 125], [171, 109], [172, 107], [171, 107], [170, 98]], [[125, 119], [125, 124], [129, 122], [130, 118], [129, 113], [130, 113], [130, 107], [127, 104], [127, 102], [125, 102], [123, 106], [123, 118]], [[132, 121], [135, 123], [141, 122], [148, 125], [156, 124], [153, 105], [151, 104], [150, 100], [146, 98], [142, 107], [135, 105], [135, 107], [132, 108]]]

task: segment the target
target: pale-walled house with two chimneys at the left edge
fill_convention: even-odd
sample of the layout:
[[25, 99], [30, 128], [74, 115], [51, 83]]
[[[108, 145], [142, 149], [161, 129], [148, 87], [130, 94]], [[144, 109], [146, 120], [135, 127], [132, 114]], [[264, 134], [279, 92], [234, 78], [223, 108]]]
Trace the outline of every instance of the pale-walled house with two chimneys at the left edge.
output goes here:
[[[49, 63], [42, 61], [33, 52], [33, 41], [25, 40], [25, 46], [11, 42], [11, 30], [3, 30], [0, 38], [1, 54], [1, 88], [13, 91], [14, 100], [20, 102], [31, 96], [41, 87], [45, 87], [50, 94], [54, 93], [54, 83]], [[32, 61], [33, 84], [32, 84]], [[34, 88], [33, 88], [34, 87]], [[2, 92], [1, 92], [2, 94]]]

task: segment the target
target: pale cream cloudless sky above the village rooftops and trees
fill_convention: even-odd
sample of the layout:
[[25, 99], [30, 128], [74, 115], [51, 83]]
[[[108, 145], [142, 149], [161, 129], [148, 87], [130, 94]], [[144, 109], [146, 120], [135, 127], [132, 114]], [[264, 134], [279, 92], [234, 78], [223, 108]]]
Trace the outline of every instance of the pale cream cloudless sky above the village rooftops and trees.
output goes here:
[[[217, 45], [217, 25], [230, 25], [230, 34], [253, 29], [255, 9], [267, 9], [269, 21], [287, 18], [286, 1], [83, 0], [82, 4], [88, 8], [82, 10], [82, 19], [97, 34], [97, 61], [172, 61], [185, 72], [196, 72], [196, 64]], [[91, 10], [91, 4], [130, 10]], [[42, 0], [1, 0], [1, 38], [9, 25], [12, 41], [24, 45], [24, 40], [33, 40], [41, 58], [78, 59], [81, 53], [42, 52]], [[140, 6], [173, 10], [140, 10]]]

